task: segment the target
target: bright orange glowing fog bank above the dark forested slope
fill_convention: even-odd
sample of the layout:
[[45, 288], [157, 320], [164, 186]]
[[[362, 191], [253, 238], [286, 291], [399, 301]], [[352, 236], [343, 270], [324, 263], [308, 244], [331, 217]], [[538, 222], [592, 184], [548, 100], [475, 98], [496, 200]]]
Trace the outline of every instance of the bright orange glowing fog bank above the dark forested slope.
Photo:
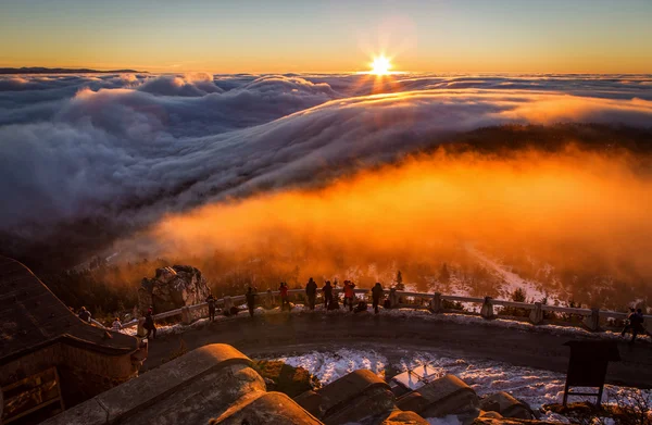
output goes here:
[[628, 271], [651, 275], [652, 179], [634, 175], [629, 161], [577, 150], [507, 159], [438, 153], [321, 189], [168, 216], [151, 236], [171, 257], [214, 250], [280, 255], [301, 259], [315, 276], [338, 272], [338, 259], [436, 262], [446, 258], [438, 252], [469, 240], [513, 248], [526, 242], [565, 264], [590, 254], [614, 273], [625, 258]]

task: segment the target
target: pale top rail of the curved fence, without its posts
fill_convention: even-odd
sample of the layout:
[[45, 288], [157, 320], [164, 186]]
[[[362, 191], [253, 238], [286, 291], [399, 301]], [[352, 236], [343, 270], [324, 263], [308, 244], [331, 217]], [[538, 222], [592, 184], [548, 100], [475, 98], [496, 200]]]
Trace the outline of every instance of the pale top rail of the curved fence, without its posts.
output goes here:
[[[321, 291], [321, 288], [317, 288], [317, 291]], [[339, 295], [339, 293], [343, 292], [343, 288], [341, 288], [341, 287], [334, 288], [333, 292], [334, 292], [334, 295]], [[368, 295], [371, 292], [371, 289], [358, 288], [358, 289], [353, 289], [353, 292], [355, 295]], [[301, 295], [301, 293], [305, 293], [305, 289], [289, 289], [288, 293], [289, 295]], [[384, 288], [383, 293], [390, 295], [391, 291], [389, 289]], [[398, 290], [394, 291], [394, 293], [397, 295], [397, 297], [425, 298], [425, 299], [432, 299], [434, 297], [439, 296], [441, 300], [446, 300], [446, 301], [465, 302], [465, 303], [475, 303], [475, 304], [485, 304], [486, 302], [489, 302], [491, 305], [516, 308], [516, 309], [524, 309], [524, 310], [530, 310], [530, 311], [540, 309], [540, 311], [559, 312], [559, 313], [565, 313], [565, 314], [576, 314], [576, 315], [581, 315], [581, 316], [591, 316], [593, 314], [592, 309], [549, 305], [549, 304], [542, 304], [542, 303], [538, 303], [538, 302], [537, 303], [518, 302], [518, 301], [493, 299], [490, 297], [478, 298], [478, 297], [465, 297], [465, 296], [453, 296], [453, 295], [447, 296], [447, 295], [441, 295], [441, 293], [410, 292], [410, 291], [398, 291]], [[278, 291], [278, 290], [267, 290], [267, 291], [263, 291], [263, 292], [256, 292], [258, 297], [268, 297], [268, 296], [277, 297], [279, 295], [280, 295], [280, 291]], [[233, 303], [238, 303], [238, 302], [244, 301], [247, 297], [244, 295], [224, 297], [224, 298], [216, 299], [215, 303], [218, 305], [224, 305], [225, 300], [227, 298], [229, 298]], [[405, 302], [401, 302], [399, 307], [413, 308], [413, 309], [423, 309], [424, 308], [423, 303], [417, 304], [417, 303], [405, 303]], [[188, 305], [185, 309], [188, 309], [189, 311], [197, 311], [197, 310], [201, 310], [204, 308], [208, 308], [206, 302]], [[184, 309], [175, 309], [175, 310], [170, 310], [170, 311], [166, 311], [163, 313], [154, 314], [154, 320], [161, 320], [161, 318], [167, 318], [167, 317], [172, 317], [172, 316], [176, 316], [176, 315], [181, 315], [183, 310]], [[598, 312], [598, 316], [601, 318], [627, 318], [627, 316], [628, 316], [628, 313], [610, 311], [610, 310], [598, 310], [597, 312]], [[644, 315], [643, 317], [647, 321], [652, 320], [652, 315]], [[128, 323], [123, 324], [123, 328], [136, 326], [142, 320], [133, 320]], [[96, 320], [92, 320], [92, 322], [99, 326], [102, 326]]]

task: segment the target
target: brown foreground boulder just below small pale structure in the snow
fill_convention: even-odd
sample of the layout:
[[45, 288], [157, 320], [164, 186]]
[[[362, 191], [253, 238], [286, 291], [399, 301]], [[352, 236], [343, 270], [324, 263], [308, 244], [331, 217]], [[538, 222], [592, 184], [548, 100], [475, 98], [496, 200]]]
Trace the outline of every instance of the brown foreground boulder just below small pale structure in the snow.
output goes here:
[[471, 424], [480, 413], [476, 392], [453, 375], [446, 375], [401, 397], [397, 405], [423, 417], [456, 415], [464, 424]]

